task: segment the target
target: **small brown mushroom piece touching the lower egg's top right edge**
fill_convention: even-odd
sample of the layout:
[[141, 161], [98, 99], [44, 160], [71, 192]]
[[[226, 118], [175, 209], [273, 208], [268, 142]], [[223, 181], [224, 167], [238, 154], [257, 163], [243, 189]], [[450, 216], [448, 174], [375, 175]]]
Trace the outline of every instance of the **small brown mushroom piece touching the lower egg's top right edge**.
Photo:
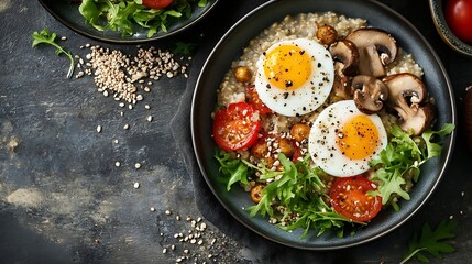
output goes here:
[[358, 75], [352, 79], [354, 102], [361, 112], [371, 114], [381, 111], [388, 98], [386, 85], [372, 76]]

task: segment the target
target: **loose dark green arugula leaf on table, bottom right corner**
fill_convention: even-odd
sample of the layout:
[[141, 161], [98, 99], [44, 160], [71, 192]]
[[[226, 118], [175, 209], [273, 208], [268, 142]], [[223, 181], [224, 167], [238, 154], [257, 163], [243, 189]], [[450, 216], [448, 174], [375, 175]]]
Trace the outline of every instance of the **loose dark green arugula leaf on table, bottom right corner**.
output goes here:
[[431, 229], [428, 222], [422, 226], [421, 234], [415, 232], [408, 244], [408, 252], [405, 254], [404, 260], [400, 264], [405, 264], [411, 257], [420, 262], [429, 262], [427, 255], [424, 252], [431, 254], [437, 258], [442, 258], [441, 253], [452, 253], [454, 248], [447, 243], [444, 240], [452, 239], [455, 237], [452, 231], [458, 227], [458, 222], [454, 220], [441, 221], [435, 230]]

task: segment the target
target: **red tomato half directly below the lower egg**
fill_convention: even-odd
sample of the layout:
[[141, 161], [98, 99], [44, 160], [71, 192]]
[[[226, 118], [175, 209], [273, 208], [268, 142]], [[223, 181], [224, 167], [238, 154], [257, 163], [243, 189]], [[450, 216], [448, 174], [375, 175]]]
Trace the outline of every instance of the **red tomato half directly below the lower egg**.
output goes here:
[[382, 197], [366, 194], [374, 189], [372, 182], [363, 176], [338, 178], [329, 193], [331, 206], [354, 221], [369, 221], [382, 209]]

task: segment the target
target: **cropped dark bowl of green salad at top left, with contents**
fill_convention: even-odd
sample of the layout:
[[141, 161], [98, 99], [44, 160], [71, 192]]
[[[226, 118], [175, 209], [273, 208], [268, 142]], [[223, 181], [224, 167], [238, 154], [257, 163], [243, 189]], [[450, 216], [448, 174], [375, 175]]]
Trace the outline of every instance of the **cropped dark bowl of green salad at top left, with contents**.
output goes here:
[[144, 43], [200, 21], [218, 0], [40, 0], [73, 31], [103, 42]]

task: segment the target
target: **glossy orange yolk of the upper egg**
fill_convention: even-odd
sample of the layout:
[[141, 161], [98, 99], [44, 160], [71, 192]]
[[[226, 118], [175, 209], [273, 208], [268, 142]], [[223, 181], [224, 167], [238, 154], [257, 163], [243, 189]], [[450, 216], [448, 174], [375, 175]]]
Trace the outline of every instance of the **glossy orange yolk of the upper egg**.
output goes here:
[[296, 45], [282, 45], [265, 54], [264, 74], [271, 85], [295, 90], [311, 75], [310, 56]]

